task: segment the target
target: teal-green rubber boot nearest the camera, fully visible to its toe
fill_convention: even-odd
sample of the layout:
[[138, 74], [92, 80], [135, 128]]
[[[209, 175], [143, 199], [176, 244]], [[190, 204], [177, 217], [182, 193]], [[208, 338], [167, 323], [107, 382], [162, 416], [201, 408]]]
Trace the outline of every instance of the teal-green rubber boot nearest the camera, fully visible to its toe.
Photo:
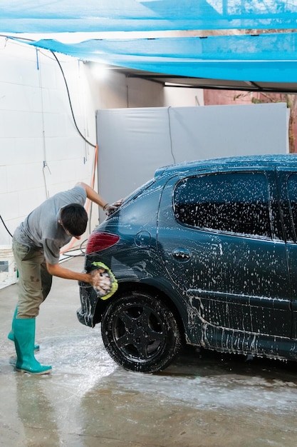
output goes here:
[[14, 344], [16, 371], [30, 374], [48, 374], [51, 366], [41, 365], [34, 357], [35, 318], [15, 318]]

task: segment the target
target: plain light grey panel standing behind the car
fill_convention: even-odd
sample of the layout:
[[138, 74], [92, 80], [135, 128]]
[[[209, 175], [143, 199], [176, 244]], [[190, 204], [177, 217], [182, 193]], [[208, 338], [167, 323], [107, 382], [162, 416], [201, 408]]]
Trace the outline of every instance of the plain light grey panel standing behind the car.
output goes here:
[[108, 201], [167, 164], [288, 151], [284, 103], [100, 110], [97, 129], [98, 188]]

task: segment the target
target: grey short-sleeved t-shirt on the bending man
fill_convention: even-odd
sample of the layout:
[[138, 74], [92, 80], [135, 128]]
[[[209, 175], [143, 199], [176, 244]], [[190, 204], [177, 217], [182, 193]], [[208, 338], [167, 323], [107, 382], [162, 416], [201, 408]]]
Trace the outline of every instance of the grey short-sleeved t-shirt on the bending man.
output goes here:
[[46, 261], [57, 264], [60, 249], [71, 241], [63, 227], [58, 224], [60, 210], [70, 204], [85, 204], [87, 194], [83, 186], [55, 194], [34, 209], [22, 222], [14, 237], [16, 241], [32, 248], [43, 249]]

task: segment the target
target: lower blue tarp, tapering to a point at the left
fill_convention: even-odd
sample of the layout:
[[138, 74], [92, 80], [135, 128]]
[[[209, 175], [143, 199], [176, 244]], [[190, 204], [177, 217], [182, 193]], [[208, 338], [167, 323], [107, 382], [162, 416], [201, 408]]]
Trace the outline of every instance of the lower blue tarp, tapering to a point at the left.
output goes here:
[[34, 45], [88, 61], [177, 76], [296, 82], [297, 34], [90, 40]]

